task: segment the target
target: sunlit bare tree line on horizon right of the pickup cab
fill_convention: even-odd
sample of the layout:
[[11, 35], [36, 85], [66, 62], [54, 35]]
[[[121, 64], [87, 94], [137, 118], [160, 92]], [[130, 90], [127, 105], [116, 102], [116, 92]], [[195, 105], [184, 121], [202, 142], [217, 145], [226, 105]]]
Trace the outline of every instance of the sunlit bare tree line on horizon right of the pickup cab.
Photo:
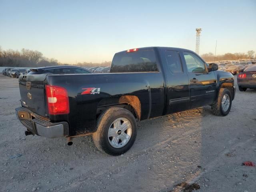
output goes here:
[[[214, 57], [214, 54], [209, 52], [206, 54], [202, 54], [201, 57], [206, 61], [206, 62], [211, 62], [211, 61], [223, 61], [223, 60], [244, 60], [244, 59], [254, 59], [256, 58], [256, 54], [254, 55], [255, 51], [250, 50], [246, 53], [226, 53], [223, 55], [216, 55]], [[215, 58], [215, 59], [214, 59]]]

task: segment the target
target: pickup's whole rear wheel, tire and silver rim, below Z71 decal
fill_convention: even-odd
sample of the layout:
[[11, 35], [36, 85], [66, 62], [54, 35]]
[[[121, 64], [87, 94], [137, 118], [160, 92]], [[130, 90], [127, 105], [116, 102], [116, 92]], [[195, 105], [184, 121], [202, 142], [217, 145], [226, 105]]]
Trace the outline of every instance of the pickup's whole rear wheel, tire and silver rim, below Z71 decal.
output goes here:
[[92, 134], [96, 147], [110, 155], [120, 155], [128, 151], [137, 135], [134, 115], [123, 108], [113, 107], [100, 115], [98, 130]]

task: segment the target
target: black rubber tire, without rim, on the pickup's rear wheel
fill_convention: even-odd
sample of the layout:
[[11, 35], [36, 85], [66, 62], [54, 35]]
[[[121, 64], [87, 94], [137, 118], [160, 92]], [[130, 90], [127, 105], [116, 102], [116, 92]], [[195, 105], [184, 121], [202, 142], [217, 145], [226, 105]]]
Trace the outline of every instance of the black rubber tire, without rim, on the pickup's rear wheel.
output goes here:
[[[118, 118], [126, 118], [131, 125], [131, 136], [128, 142], [121, 148], [113, 147], [108, 138], [108, 129], [112, 123]], [[137, 123], [134, 115], [123, 108], [113, 107], [103, 112], [97, 120], [97, 131], [92, 134], [95, 146], [102, 152], [109, 155], [117, 156], [128, 151], [137, 136]]]

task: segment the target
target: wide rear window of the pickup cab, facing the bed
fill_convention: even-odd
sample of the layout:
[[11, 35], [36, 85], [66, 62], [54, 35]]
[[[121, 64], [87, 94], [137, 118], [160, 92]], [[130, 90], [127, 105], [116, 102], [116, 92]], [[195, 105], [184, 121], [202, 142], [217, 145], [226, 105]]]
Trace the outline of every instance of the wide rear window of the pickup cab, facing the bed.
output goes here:
[[114, 55], [110, 73], [158, 72], [156, 53], [152, 49], [119, 52]]

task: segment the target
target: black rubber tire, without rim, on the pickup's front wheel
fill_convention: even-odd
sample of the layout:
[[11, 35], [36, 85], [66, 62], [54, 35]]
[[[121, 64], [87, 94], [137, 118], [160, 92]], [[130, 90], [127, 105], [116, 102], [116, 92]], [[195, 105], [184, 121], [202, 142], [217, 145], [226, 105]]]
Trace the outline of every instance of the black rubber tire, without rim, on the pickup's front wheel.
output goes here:
[[[222, 109], [222, 98], [224, 97], [225, 94], [228, 94], [230, 98], [230, 104], [229, 104], [228, 110], [226, 111]], [[212, 104], [212, 113], [217, 116], [226, 116], [230, 112], [231, 105], [232, 105], [232, 96], [230, 91], [226, 88], [220, 88], [218, 98], [214, 102], [214, 104]]]

